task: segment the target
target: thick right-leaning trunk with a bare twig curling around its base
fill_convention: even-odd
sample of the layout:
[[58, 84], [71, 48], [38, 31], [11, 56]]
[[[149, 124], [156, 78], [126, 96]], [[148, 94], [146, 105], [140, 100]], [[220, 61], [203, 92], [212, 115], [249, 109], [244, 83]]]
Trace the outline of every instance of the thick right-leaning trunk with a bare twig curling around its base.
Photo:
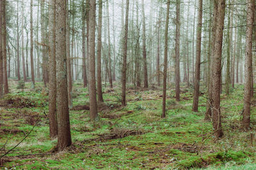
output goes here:
[[216, 37], [212, 56], [212, 126], [216, 139], [223, 136], [220, 112], [221, 52], [225, 19], [225, 0], [218, 1]]

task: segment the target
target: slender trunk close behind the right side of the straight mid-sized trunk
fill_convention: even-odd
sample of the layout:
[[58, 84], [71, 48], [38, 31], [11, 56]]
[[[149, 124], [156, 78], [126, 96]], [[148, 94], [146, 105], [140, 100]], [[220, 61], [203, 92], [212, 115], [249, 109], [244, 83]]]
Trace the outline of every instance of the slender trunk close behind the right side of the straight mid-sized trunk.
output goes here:
[[102, 0], [99, 0], [99, 20], [98, 20], [98, 41], [97, 41], [97, 97], [98, 102], [103, 102], [102, 80], [101, 80], [101, 33], [102, 33]]

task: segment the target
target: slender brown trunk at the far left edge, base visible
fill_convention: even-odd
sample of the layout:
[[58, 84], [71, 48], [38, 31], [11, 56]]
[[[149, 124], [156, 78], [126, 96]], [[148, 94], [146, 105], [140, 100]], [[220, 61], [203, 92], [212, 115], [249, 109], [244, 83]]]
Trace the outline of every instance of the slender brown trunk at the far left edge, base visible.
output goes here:
[[[2, 10], [2, 22], [3, 22], [3, 83], [4, 83], [4, 94], [9, 93], [8, 88], [8, 77], [7, 77], [7, 51], [6, 51], [6, 0], [3, 0]], [[1, 15], [0, 15], [1, 16]], [[10, 68], [10, 67], [9, 67]]]

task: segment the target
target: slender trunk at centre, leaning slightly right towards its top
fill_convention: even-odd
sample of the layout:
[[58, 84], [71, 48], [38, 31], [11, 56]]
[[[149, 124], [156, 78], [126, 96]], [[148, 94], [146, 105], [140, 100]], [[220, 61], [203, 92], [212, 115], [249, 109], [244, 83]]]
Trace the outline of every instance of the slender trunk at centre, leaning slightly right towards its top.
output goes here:
[[127, 39], [128, 39], [129, 0], [126, 0], [125, 26], [123, 40], [123, 67], [122, 67], [122, 106], [126, 105], [126, 70], [127, 70]]

